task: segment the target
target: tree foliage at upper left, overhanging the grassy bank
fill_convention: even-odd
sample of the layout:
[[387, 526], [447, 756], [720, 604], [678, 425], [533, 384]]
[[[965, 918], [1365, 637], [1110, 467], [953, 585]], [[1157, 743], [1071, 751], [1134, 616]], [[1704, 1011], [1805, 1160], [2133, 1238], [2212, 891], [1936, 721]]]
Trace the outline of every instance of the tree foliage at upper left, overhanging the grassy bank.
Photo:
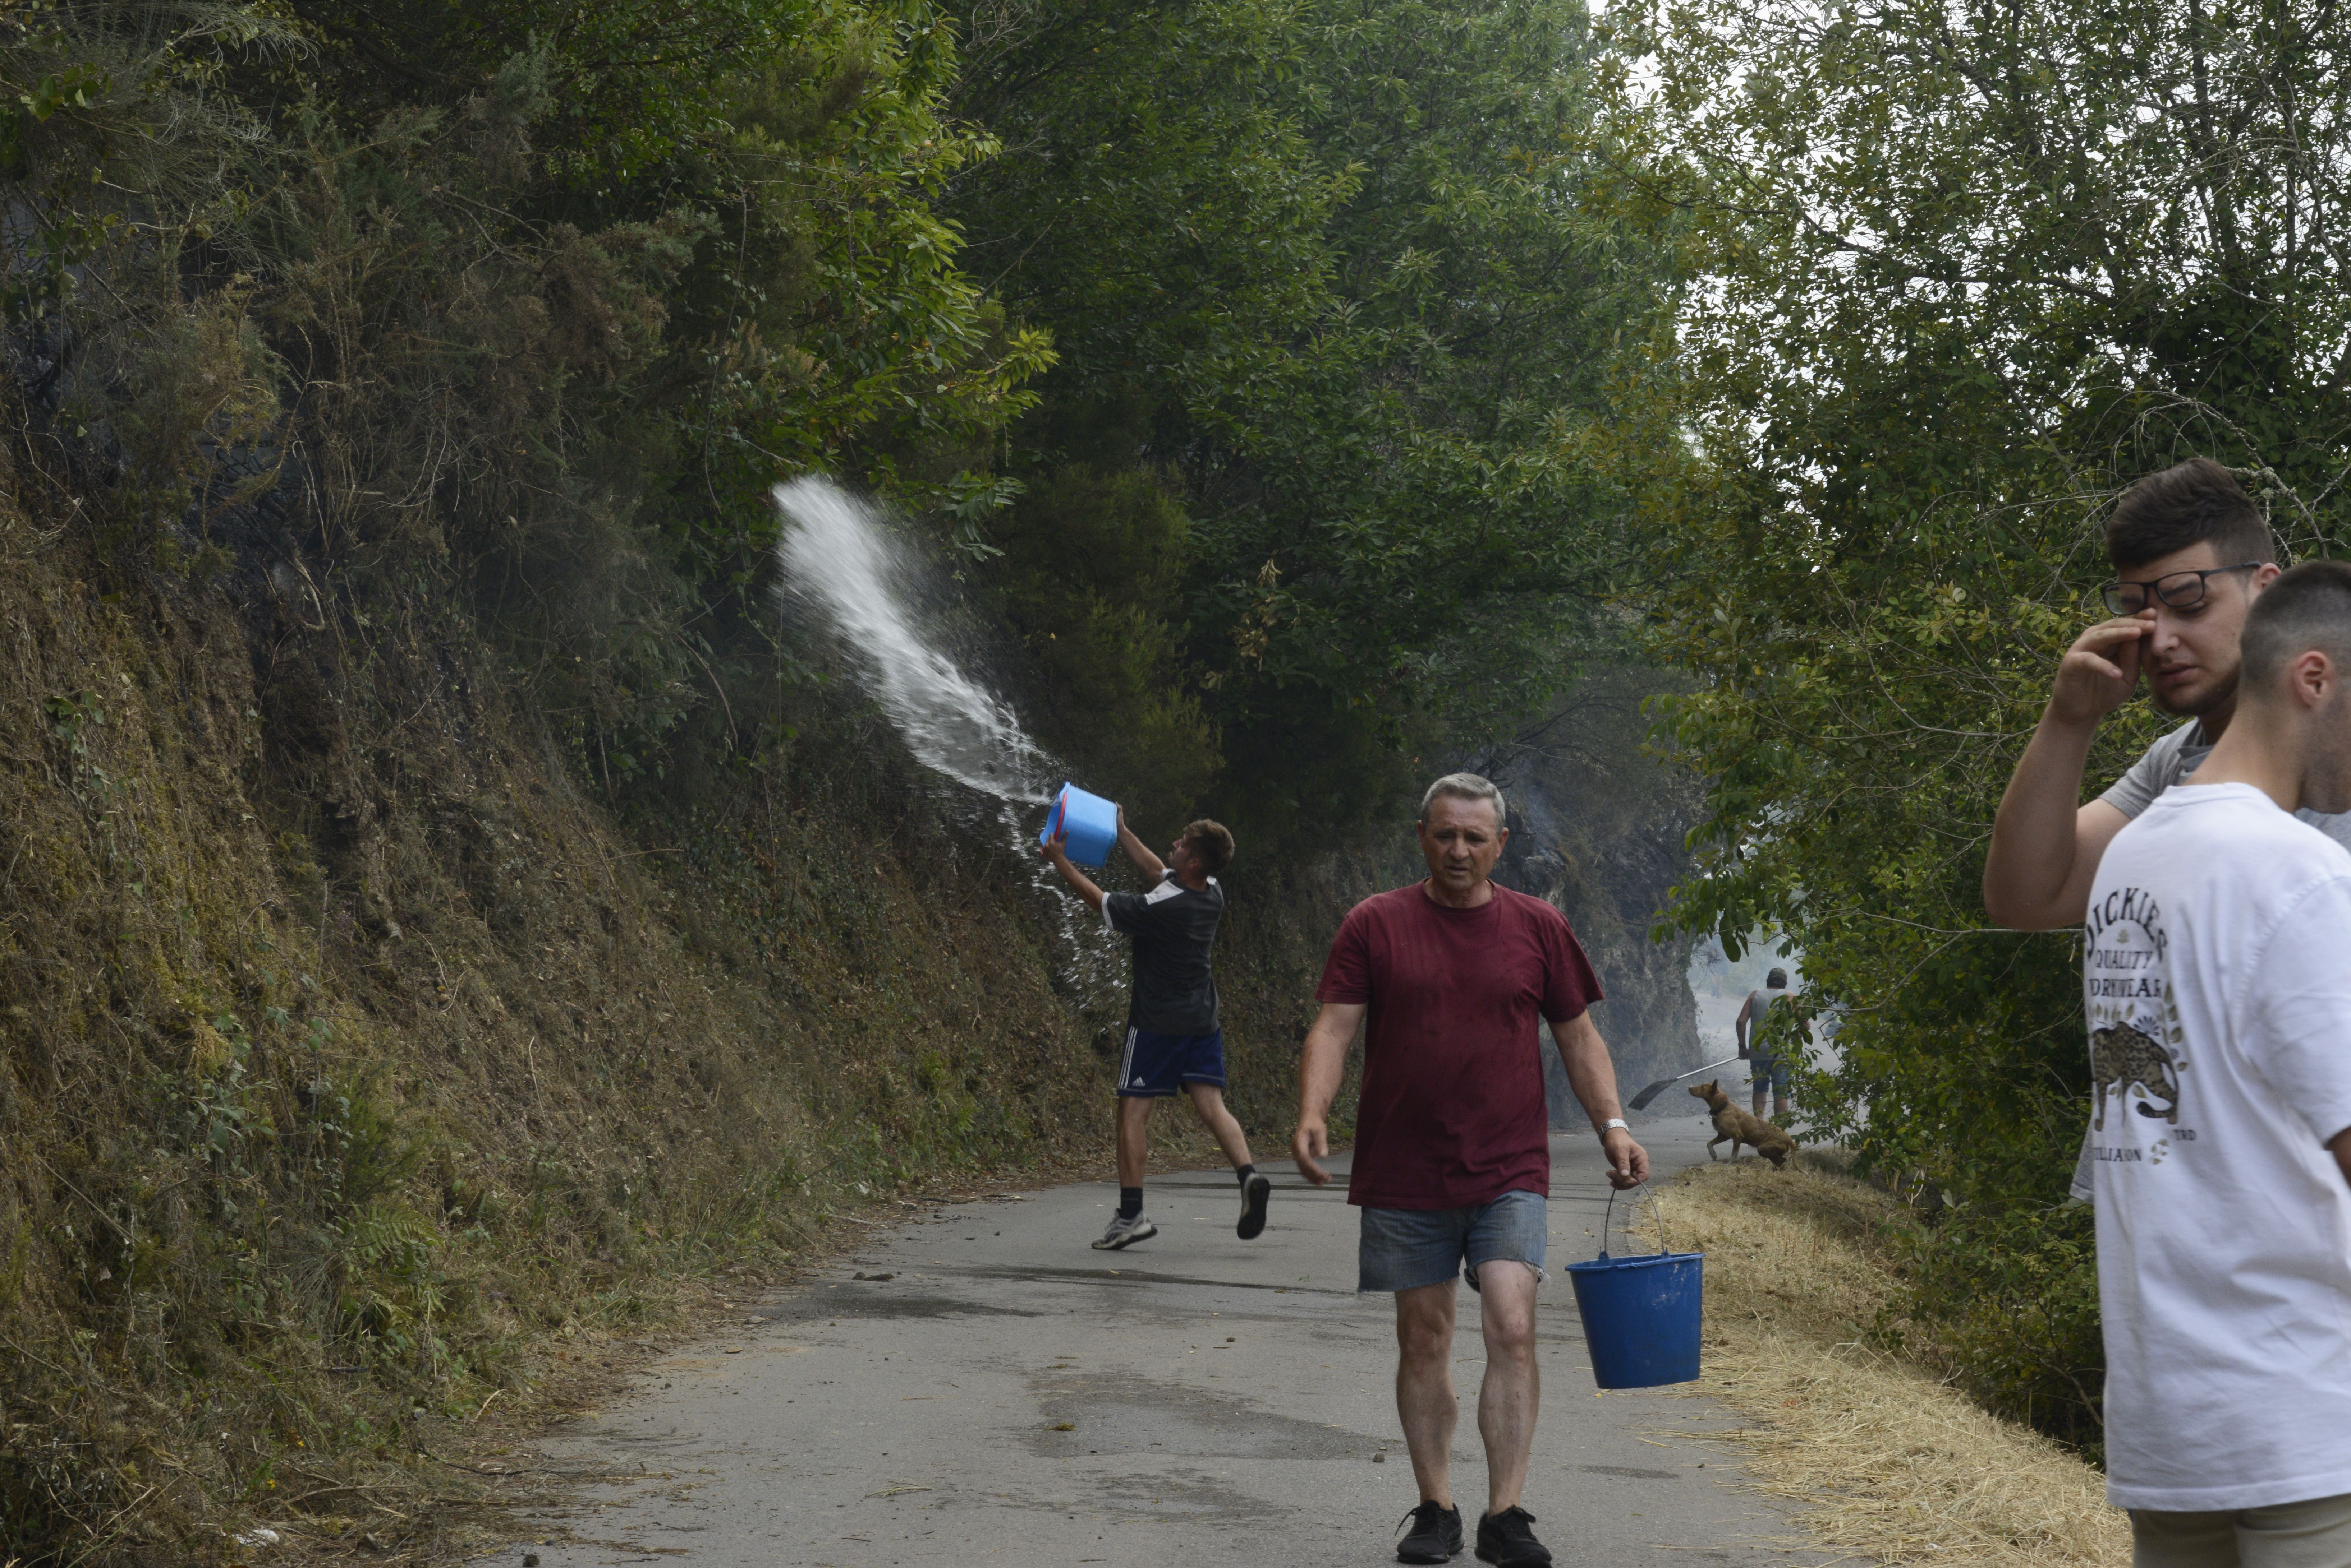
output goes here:
[[[994, 442], [1051, 350], [936, 212], [990, 150], [940, 113], [938, 12], [87, 5], [5, 28], [40, 259], [12, 310], [56, 350], [35, 404], [148, 480], [125, 543], [200, 555], [221, 496], [197, 475], [252, 447], [329, 496], [336, 571], [480, 595], [607, 790], [757, 755], [729, 686], [773, 684], [776, 477], [966, 534], [999, 498]], [[181, 371], [223, 390], [190, 402]]]

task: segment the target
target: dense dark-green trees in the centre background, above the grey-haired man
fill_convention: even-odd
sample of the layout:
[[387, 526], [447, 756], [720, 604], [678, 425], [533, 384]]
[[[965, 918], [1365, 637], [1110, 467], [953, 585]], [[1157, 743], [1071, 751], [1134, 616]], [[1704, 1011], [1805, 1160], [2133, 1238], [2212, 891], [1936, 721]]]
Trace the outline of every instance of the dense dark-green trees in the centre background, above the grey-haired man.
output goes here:
[[[1126, 597], [1161, 628], [1136, 675], [1215, 726], [1220, 813], [1260, 839], [1345, 832], [1406, 752], [1493, 736], [1608, 642], [1592, 604], [1620, 505], [1578, 430], [1655, 259], [1585, 202], [1582, 7], [969, 26], [957, 103], [1006, 150], [952, 212], [1060, 353], [1016, 470], [1039, 494], [1065, 470], [1157, 477], [1185, 562], [1178, 597]], [[1004, 534], [1060, 515], [1016, 505]], [[1009, 592], [1032, 642], [1067, 635]]]

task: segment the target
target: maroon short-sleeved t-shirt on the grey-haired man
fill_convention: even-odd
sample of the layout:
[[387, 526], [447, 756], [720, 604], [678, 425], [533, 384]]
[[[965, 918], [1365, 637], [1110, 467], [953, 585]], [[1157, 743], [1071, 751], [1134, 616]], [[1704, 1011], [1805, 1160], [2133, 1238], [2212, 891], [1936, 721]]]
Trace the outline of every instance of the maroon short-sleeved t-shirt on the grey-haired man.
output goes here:
[[1448, 910], [1375, 893], [1331, 940], [1317, 1001], [1368, 1001], [1349, 1204], [1469, 1208], [1552, 1190], [1542, 1020], [1601, 999], [1568, 917], [1493, 889]]

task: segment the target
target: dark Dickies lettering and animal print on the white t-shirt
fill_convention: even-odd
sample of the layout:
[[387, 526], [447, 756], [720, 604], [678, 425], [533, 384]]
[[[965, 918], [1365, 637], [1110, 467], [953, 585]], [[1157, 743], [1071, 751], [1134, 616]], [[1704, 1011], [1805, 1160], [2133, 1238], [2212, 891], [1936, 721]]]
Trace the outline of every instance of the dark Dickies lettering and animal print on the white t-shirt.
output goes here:
[[[2106, 1098], [2179, 1126], [2186, 1037], [2172, 1001], [2163, 905], [2146, 889], [2116, 889], [2083, 926], [2083, 1011], [2090, 1020], [2090, 1131], [2106, 1131]], [[2163, 1159], [2158, 1140], [2154, 1157]], [[2099, 1150], [2114, 1157], [2118, 1150]], [[2132, 1152], [2135, 1154], [2135, 1152]]]

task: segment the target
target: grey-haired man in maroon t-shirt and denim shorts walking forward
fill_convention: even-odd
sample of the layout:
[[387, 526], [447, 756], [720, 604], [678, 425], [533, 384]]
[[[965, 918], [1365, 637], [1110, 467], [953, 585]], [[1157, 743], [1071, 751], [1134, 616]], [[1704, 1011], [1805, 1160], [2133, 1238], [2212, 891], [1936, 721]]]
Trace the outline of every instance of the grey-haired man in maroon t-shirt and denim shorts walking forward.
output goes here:
[[1359, 1291], [1396, 1295], [1396, 1415], [1420, 1507], [1399, 1542], [1406, 1563], [1462, 1549], [1446, 1460], [1453, 1450], [1453, 1281], [1469, 1265], [1486, 1328], [1479, 1432], [1486, 1516], [1476, 1554], [1505, 1568], [1549, 1563], [1535, 1516], [1519, 1507], [1535, 1439], [1535, 1286], [1552, 1192], [1542, 1034], [1552, 1025], [1568, 1084], [1608, 1154], [1608, 1180], [1648, 1180], [1648, 1152], [1625, 1128], [1615, 1065], [1592, 1027], [1601, 999], [1568, 919], [1540, 898], [1493, 884], [1509, 830], [1502, 792], [1448, 773], [1420, 802], [1427, 882], [1354, 905], [1314, 997], [1321, 1016], [1298, 1070], [1291, 1154], [1317, 1187], [1331, 1180], [1324, 1117], [1354, 1030], [1364, 1095], [1347, 1201], [1364, 1208]]

